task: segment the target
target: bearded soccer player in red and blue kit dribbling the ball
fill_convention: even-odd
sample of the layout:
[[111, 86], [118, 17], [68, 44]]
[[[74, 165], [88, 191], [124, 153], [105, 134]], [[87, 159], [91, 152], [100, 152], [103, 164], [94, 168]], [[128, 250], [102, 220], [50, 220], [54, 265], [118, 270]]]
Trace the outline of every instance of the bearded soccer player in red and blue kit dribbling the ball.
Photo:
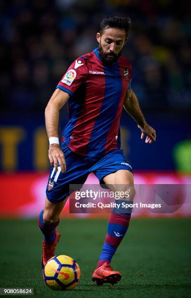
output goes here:
[[[69, 195], [69, 184], [84, 184], [94, 172], [100, 184], [112, 191], [128, 191], [133, 201], [132, 168], [120, 149], [119, 123], [123, 107], [137, 122], [145, 143], [156, 140], [155, 130], [147, 124], [138, 99], [131, 89], [132, 67], [122, 50], [127, 42], [129, 18], [108, 17], [96, 34], [98, 48], [77, 58], [69, 67], [51, 96], [46, 111], [49, 138], [48, 156], [51, 164], [44, 210], [39, 227], [44, 234], [42, 267], [55, 255], [60, 239], [56, 230], [59, 215]], [[58, 138], [59, 111], [66, 101], [69, 107], [62, 144]], [[93, 273], [92, 281], [117, 283], [118, 271], [111, 268], [111, 258], [124, 238], [131, 212], [123, 208], [112, 210], [108, 233]]]

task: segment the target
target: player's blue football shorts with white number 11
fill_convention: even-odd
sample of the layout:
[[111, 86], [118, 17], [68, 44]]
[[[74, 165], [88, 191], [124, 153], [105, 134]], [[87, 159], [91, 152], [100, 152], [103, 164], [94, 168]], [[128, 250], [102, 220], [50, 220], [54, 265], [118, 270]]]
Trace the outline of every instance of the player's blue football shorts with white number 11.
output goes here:
[[100, 184], [104, 184], [105, 176], [117, 170], [132, 172], [122, 149], [113, 149], [101, 157], [83, 156], [73, 152], [63, 142], [61, 150], [65, 157], [66, 171], [62, 173], [60, 168], [57, 172], [53, 167], [50, 169], [46, 194], [48, 201], [52, 203], [64, 201], [69, 195], [69, 185], [83, 185], [91, 172], [96, 175]]

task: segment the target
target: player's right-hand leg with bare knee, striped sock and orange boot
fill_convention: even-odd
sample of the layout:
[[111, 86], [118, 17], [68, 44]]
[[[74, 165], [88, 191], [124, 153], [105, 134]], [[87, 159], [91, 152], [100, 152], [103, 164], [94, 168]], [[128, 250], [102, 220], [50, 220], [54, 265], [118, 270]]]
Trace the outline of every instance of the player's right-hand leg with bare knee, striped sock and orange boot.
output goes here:
[[[105, 176], [103, 180], [113, 192], [128, 192], [128, 198], [121, 198], [117, 200], [118, 203], [122, 201], [132, 203], [135, 196], [135, 189], [133, 184], [133, 174], [130, 171], [124, 169], [118, 170], [115, 173]], [[112, 271], [110, 262], [117, 247], [127, 232], [131, 217], [130, 211], [123, 210], [123, 208], [120, 208], [120, 210], [114, 208], [112, 210], [108, 221], [108, 233], [106, 235], [102, 253], [97, 263], [97, 268], [92, 276], [92, 281], [97, 285], [102, 285], [103, 283], [114, 284], [119, 282], [121, 279], [121, 273], [118, 271]]]

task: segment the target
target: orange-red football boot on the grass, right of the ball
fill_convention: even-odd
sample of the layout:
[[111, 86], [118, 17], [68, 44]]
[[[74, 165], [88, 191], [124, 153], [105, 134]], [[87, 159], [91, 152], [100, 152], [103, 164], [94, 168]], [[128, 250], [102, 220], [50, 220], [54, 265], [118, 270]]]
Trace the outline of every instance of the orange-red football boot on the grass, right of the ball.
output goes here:
[[92, 275], [92, 282], [97, 285], [103, 285], [103, 283], [118, 283], [120, 279], [121, 273], [118, 271], [112, 271], [112, 267], [107, 261], [100, 267], [96, 268]]

